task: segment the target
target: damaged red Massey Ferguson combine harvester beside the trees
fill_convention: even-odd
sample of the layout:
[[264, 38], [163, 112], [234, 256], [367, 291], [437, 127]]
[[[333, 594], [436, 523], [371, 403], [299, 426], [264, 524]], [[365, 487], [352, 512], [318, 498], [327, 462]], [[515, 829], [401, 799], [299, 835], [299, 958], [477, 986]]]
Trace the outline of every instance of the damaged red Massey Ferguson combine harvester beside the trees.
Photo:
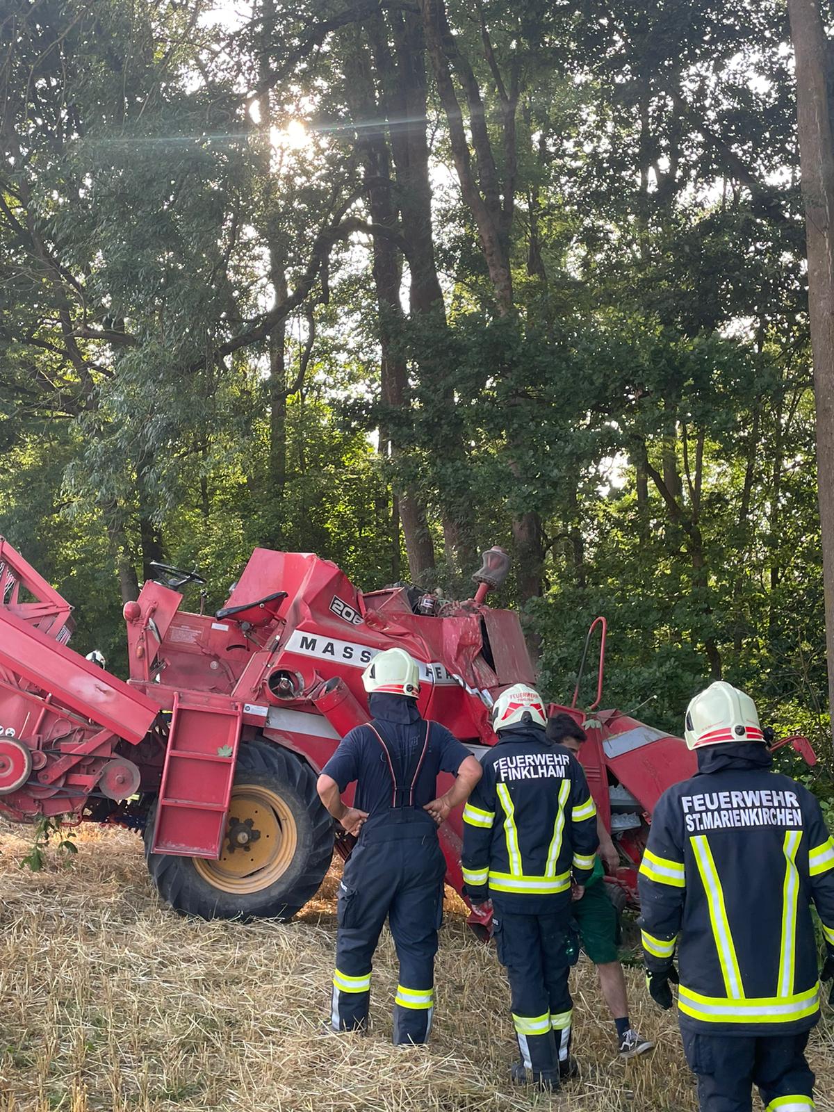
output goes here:
[[[347, 856], [353, 840], [334, 830], [316, 776], [368, 719], [361, 673], [380, 649], [420, 662], [421, 712], [476, 753], [495, 743], [497, 693], [535, 682], [518, 616], [484, 602], [507, 574], [500, 549], [465, 603], [404, 586], [363, 594], [315, 555], [256, 548], [226, 606], [190, 614], [178, 588], [205, 580], [156, 567], [125, 606], [125, 683], [67, 647], [70, 605], [0, 538], [0, 815], [142, 830], [153, 882], [182, 913], [288, 919], [334, 843]], [[694, 757], [617, 711], [559, 709], [588, 729], [583, 762], [623, 854], [614, 883], [634, 900], [646, 820]], [[458, 892], [461, 833], [458, 811], [440, 830]]]

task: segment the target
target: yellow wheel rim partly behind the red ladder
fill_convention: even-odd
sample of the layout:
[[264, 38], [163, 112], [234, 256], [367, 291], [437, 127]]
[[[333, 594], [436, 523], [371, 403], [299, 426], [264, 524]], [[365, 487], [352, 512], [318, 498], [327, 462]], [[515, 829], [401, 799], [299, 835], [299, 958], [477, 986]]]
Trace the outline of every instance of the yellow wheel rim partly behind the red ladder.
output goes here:
[[244, 895], [268, 888], [286, 873], [297, 846], [298, 827], [280, 795], [257, 784], [236, 784], [219, 858], [192, 860], [214, 887]]

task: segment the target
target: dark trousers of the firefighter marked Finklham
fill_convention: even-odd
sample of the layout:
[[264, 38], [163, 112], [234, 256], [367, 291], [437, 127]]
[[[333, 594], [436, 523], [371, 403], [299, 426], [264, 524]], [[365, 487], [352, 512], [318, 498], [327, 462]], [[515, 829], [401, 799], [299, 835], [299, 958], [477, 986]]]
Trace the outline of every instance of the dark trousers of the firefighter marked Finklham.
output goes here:
[[569, 910], [517, 915], [494, 904], [493, 932], [509, 979], [522, 1062], [534, 1075], [554, 1080], [570, 1049]]

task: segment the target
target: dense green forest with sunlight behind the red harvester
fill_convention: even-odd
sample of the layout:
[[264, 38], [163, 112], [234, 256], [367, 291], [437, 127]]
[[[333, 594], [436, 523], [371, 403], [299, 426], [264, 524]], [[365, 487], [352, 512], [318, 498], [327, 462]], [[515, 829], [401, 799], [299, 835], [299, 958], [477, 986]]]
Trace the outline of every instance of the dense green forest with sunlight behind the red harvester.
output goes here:
[[0, 18], [0, 532], [77, 647], [155, 559], [466, 597], [499, 544], [552, 697], [605, 614], [606, 705], [827, 733], [784, 3]]

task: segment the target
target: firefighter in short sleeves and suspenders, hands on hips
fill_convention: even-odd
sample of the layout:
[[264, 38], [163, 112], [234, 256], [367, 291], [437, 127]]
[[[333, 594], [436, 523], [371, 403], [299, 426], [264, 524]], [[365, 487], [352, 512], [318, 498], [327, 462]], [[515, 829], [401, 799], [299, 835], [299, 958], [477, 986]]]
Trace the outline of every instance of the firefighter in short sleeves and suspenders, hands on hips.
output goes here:
[[[448, 729], [420, 716], [419, 672], [405, 649], [380, 653], [363, 679], [373, 721], [350, 731], [318, 780], [327, 810], [358, 835], [339, 885], [332, 1026], [367, 1026], [374, 951], [387, 917], [399, 959], [394, 1042], [425, 1043], [446, 874], [437, 827], [468, 798], [480, 765]], [[456, 780], [437, 797], [440, 772]], [[340, 795], [354, 781], [356, 806], [347, 807]]]

